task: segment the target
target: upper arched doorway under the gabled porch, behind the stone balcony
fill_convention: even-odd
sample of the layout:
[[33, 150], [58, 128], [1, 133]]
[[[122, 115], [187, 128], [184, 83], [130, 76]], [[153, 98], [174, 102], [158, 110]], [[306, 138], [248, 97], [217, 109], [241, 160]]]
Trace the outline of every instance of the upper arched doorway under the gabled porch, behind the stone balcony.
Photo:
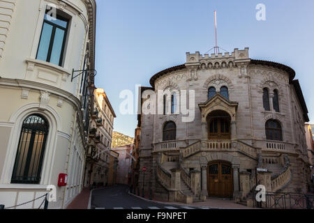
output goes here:
[[222, 110], [216, 110], [207, 116], [208, 139], [231, 139], [230, 115]]

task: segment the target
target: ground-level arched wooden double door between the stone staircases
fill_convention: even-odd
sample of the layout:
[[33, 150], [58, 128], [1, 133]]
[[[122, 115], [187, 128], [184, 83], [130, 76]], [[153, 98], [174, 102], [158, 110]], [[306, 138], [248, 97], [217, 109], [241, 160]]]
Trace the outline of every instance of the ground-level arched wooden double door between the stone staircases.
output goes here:
[[233, 196], [233, 174], [230, 162], [209, 162], [207, 167], [207, 190], [209, 197]]

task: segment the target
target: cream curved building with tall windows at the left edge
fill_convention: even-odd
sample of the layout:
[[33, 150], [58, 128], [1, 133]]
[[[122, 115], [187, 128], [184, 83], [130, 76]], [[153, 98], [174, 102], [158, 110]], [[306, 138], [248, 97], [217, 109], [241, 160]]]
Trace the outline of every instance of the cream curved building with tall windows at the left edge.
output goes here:
[[49, 208], [66, 208], [83, 187], [94, 72], [73, 70], [95, 69], [96, 2], [1, 0], [0, 11], [0, 203], [55, 187]]

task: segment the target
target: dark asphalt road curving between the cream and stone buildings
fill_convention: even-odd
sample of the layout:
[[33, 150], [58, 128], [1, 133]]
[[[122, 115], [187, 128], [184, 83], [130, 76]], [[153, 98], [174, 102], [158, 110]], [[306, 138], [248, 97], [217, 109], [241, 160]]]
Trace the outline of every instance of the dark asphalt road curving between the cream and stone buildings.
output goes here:
[[117, 185], [94, 190], [91, 209], [209, 209], [146, 201], [128, 194], [128, 189], [127, 185]]

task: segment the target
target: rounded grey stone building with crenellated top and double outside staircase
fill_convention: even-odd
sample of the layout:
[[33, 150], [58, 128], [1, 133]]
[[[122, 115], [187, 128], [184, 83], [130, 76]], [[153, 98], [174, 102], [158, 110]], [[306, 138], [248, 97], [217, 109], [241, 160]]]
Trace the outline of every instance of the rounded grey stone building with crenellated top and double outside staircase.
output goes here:
[[250, 59], [248, 48], [186, 53], [186, 63], [151, 77], [138, 126], [145, 190], [186, 203], [246, 200], [257, 184], [306, 193], [308, 110], [294, 77], [288, 66]]

